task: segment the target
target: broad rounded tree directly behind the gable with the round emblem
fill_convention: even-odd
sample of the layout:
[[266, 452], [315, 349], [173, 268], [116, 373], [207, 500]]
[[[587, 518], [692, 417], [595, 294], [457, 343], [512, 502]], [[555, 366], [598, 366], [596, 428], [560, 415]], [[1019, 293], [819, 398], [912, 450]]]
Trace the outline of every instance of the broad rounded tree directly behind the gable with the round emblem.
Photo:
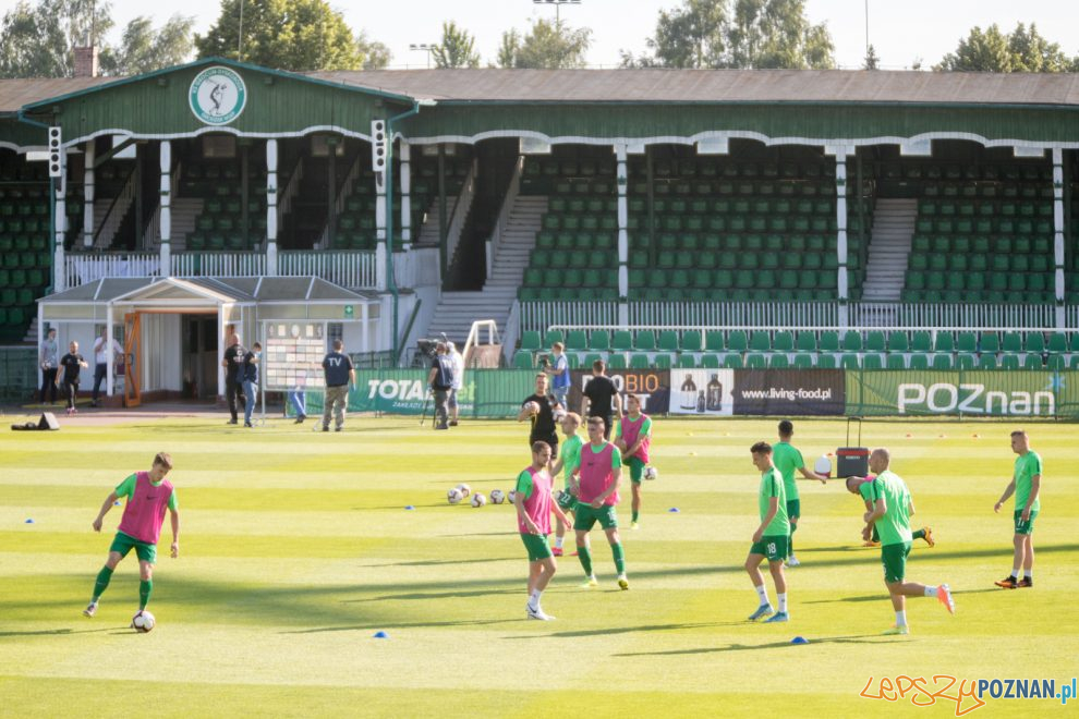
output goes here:
[[[325, 0], [221, 0], [221, 14], [195, 38], [198, 57], [235, 58], [282, 70], [359, 70], [384, 66], [389, 51], [353, 35], [341, 13]], [[241, 37], [242, 32], [242, 37]], [[242, 50], [240, 49], [242, 48]]]

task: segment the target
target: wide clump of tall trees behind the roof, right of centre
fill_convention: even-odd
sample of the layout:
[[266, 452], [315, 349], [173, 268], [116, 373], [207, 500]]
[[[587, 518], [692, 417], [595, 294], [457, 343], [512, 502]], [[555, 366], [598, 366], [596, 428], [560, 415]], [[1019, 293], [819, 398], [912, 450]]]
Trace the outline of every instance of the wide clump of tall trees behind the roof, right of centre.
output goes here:
[[[660, 11], [647, 40], [654, 58], [623, 66], [834, 68], [835, 46], [825, 25], [812, 25], [804, 0], [683, 0]], [[630, 56], [631, 58], [631, 56]]]

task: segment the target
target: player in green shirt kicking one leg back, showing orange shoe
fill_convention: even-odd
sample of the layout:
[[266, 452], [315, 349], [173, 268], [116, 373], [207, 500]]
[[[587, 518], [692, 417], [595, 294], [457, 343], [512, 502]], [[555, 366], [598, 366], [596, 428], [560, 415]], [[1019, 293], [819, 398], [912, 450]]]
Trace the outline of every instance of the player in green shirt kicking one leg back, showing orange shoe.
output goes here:
[[876, 477], [865, 482], [859, 477], [847, 478], [847, 490], [865, 500], [865, 524], [875, 524], [881, 533], [881, 561], [884, 563], [884, 584], [892, 595], [896, 611], [896, 625], [885, 634], [909, 634], [907, 624], [907, 597], [936, 597], [949, 613], [956, 613], [956, 604], [947, 584], [926, 586], [906, 582], [907, 556], [910, 553], [910, 516], [914, 502], [906, 483], [888, 470], [892, 454], [884, 448], [870, 454], [870, 470]]

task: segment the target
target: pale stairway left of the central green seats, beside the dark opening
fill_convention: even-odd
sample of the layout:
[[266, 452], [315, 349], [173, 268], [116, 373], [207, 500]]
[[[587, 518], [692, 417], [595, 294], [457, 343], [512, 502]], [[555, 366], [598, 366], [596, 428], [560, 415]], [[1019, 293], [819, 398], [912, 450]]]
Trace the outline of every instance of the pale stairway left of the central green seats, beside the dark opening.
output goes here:
[[[494, 319], [499, 329], [505, 331], [546, 211], [546, 197], [517, 197], [492, 263], [490, 277], [483, 290], [444, 292], [427, 329], [427, 337], [437, 337], [439, 332], [445, 332], [449, 339], [463, 346], [472, 322], [478, 319]], [[428, 220], [427, 226], [431, 224]]]

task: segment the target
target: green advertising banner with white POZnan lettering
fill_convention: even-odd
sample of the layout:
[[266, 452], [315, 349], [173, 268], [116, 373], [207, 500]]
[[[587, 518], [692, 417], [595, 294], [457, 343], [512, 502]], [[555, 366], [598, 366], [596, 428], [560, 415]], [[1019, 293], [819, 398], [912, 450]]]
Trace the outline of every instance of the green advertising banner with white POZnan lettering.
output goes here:
[[1054, 417], [1079, 410], [1079, 373], [863, 370], [847, 373], [852, 415]]

